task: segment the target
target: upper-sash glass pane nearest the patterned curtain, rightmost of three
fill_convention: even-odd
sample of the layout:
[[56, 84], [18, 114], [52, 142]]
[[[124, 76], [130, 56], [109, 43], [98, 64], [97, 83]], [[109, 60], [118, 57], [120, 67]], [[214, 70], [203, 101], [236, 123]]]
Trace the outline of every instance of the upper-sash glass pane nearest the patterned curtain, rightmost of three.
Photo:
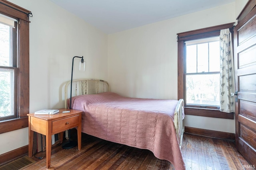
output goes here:
[[209, 71], [220, 71], [220, 41], [209, 43]]

